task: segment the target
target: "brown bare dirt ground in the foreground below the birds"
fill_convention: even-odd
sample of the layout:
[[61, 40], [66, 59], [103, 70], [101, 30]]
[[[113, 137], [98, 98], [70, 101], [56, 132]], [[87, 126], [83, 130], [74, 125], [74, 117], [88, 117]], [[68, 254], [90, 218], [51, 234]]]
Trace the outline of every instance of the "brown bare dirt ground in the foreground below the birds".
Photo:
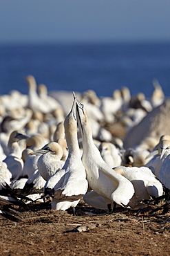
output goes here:
[[113, 214], [85, 203], [50, 210], [50, 203], [19, 208], [19, 222], [0, 219], [0, 255], [170, 255], [170, 210], [162, 203]]

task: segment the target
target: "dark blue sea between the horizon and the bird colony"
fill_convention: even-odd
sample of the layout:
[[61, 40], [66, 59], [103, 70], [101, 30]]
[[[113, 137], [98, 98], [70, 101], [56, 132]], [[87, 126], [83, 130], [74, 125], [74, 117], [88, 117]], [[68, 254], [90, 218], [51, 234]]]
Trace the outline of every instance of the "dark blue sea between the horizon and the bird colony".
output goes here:
[[128, 86], [149, 97], [157, 78], [170, 95], [170, 43], [48, 44], [0, 46], [0, 94], [28, 93], [26, 75], [48, 91], [86, 91], [111, 96]]

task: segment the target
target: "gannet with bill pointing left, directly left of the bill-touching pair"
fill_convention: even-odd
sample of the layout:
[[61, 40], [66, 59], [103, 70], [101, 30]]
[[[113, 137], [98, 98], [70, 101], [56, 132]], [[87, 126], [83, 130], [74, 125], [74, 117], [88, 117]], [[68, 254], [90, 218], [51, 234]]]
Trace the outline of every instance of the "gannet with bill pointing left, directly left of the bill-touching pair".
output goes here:
[[45, 181], [65, 164], [65, 161], [61, 160], [63, 149], [56, 142], [48, 143], [41, 149], [31, 152], [30, 155], [41, 155], [37, 161], [37, 167]]

